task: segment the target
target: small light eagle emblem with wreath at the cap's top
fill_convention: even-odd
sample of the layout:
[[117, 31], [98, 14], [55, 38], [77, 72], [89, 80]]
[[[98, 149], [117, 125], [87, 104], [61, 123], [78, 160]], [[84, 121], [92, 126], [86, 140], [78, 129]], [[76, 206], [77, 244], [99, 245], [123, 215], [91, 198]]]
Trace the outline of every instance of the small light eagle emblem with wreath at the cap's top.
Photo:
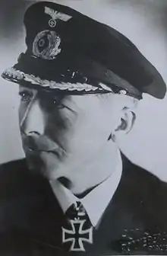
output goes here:
[[51, 17], [51, 19], [49, 20], [49, 27], [55, 27], [56, 20], [69, 21], [72, 18], [68, 14], [55, 11], [47, 6], [45, 7], [45, 13], [49, 14], [49, 16]]

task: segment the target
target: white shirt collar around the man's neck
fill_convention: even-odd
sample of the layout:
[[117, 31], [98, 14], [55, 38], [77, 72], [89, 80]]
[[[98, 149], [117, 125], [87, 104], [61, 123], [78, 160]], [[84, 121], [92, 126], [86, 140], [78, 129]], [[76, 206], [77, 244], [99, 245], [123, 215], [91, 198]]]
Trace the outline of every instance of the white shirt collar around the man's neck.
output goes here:
[[[64, 187], [58, 180], [50, 181], [50, 184], [64, 213], [72, 203], [80, 201], [87, 210], [92, 225], [95, 227], [115, 194], [115, 190], [121, 180], [121, 172], [122, 162], [121, 155], [119, 155], [119, 161], [115, 171], [106, 179], [106, 181], [103, 181], [82, 199], [78, 199], [74, 196], [74, 194], [72, 194], [71, 191]], [[102, 200], [99, 201], [100, 198], [102, 198]]]

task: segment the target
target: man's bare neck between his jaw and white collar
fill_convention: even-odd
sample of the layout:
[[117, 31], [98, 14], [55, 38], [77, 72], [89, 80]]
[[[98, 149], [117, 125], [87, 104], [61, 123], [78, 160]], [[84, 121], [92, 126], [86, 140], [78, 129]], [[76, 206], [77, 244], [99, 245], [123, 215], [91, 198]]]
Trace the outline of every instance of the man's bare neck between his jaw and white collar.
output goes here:
[[[109, 178], [120, 162], [121, 153], [119, 149], [111, 151], [108, 144], [105, 149], [94, 156], [91, 162], [80, 166], [73, 180], [68, 183], [68, 189], [73, 194], [80, 196], [87, 194], [93, 187]], [[63, 184], [63, 182], [61, 183]]]

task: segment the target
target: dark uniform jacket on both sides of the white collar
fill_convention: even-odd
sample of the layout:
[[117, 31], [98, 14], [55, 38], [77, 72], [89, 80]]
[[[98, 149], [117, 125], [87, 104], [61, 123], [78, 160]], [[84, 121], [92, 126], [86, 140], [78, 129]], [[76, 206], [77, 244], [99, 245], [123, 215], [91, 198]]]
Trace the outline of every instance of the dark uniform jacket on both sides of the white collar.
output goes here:
[[30, 174], [24, 159], [1, 165], [0, 254], [167, 254], [166, 184], [124, 156], [123, 166], [93, 245], [83, 242], [87, 252], [67, 252], [61, 242], [65, 215], [48, 181]]

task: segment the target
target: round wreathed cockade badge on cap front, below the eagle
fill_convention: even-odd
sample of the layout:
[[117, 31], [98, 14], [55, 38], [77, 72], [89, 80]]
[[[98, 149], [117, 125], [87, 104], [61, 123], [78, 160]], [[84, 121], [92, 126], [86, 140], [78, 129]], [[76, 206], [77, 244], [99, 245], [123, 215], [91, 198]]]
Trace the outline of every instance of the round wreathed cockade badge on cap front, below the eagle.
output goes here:
[[33, 56], [48, 60], [55, 59], [55, 56], [61, 52], [60, 44], [61, 38], [55, 31], [41, 31], [33, 41]]

